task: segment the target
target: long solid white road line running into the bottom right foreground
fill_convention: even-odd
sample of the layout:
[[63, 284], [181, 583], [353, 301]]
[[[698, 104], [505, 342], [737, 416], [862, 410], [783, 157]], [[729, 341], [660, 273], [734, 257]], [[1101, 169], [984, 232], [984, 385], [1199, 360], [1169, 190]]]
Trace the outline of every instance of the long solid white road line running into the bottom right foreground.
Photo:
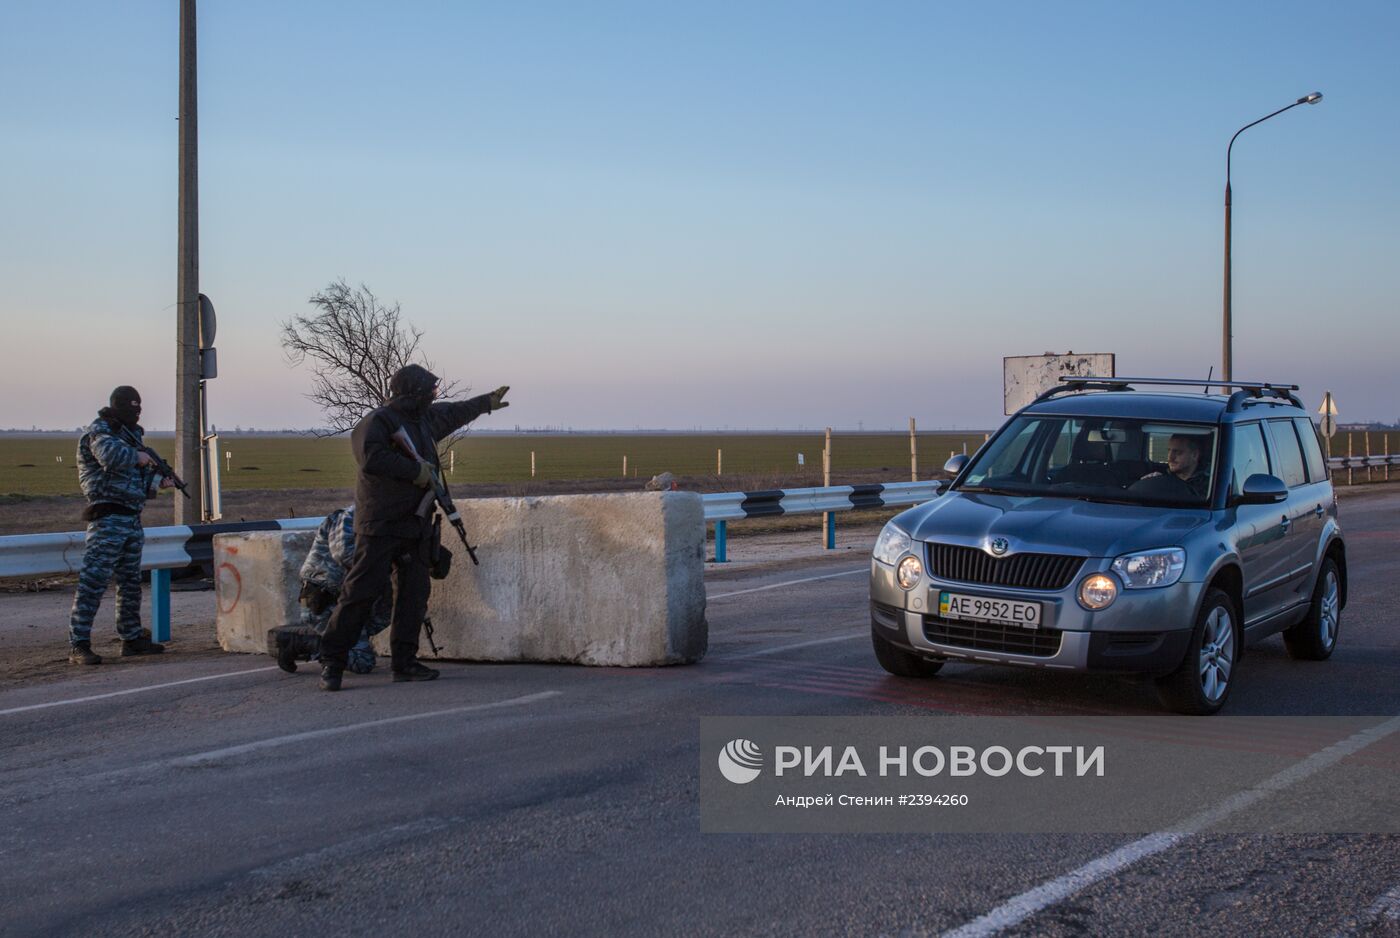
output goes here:
[[1319, 749], [1302, 762], [1284, 769], [1270, 778], [1266, 778], [1256, 787], [1236, 792], [1214, 808], [1187, 818], [1180, 825], [1175, 825], [1169, 830], [1159, 830], [1140, 840], [1134, 840], [1130, 844], [1119, 847], [1113, 853], [1091, 860], [1078, 869], [1071, 869], [1061, 876], [1056, 876], [1054, 879], [1040, 883], [1035, 889], [1029, 889], [1019, 896], [1008, 899], [986, 916], [969, 921], [960, 928], [944, 932], [944, 938], [983, 938], [984, 935], [995, 935], [997, 932], [1019, 924], [1044, 909], [1049, 909], [1057, 902], [1072, 896], [1081, 889], [1112, 876], [1120, 869], [1131, 867], [1144, 857], [1159, 854], [1182, 840], [1186, 840], [1191, 834], [1211, 825], [1219, 823], [1225, 818], [1229, 818], [1245, 808], [1249, 808], [1254, 802], [1263, 801], [1268, 795], [1277, 794], [1284, 788], [1288, 788], [1289, 785], [1336, 764], [1347, 756], [1365, 749], [1371, 743], [1389, 736], [1397, 729], [1400, 729], [1400, 717], [1392, 717], [1390, 720], [1371, 727], [1369, 729], [1352, 734], [1351, 736], [1347, 736], [1341, 742], [1333, 743], [1326, 749]]

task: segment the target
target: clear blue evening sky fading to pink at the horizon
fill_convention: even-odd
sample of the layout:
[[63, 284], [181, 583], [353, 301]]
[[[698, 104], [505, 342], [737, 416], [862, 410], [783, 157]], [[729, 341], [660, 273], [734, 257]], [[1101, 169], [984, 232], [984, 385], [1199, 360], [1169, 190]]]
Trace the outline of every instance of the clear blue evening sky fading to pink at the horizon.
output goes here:
[[[174, 424], [176, 0], [0, 7], [0, 427]], [[1394, 3], [199, 4], [218, 427], [346, 279], [482, 428], [977, 427], [1002, 357], [1400, 419]]]

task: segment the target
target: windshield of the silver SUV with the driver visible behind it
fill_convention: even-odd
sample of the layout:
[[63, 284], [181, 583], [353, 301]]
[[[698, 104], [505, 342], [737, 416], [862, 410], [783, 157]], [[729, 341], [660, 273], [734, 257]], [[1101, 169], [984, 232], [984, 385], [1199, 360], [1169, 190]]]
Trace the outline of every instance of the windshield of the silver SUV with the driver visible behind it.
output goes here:
[[1022, 414], [977, 452], [958, 489], [1205, 507], [1215, 442], [1207, 424]]

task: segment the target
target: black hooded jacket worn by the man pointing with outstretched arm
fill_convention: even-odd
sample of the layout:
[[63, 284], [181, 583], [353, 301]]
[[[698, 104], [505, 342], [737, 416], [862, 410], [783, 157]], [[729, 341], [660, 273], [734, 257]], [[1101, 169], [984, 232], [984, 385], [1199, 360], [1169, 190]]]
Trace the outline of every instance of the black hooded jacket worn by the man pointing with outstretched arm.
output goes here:
[[391, 438], [403, 427], [419, 455], [438, 465], [437, 441], [491, 412], [491, 396], [430, 405], [417, 419], [395, 405], [371, 410], [350, 433], [350, 447], [360, 466], [354, 489], [354, 531], [363, 535], [416, 538], [424, 522], [416, 515], [424, 489], [413, 484], [419, 463]]

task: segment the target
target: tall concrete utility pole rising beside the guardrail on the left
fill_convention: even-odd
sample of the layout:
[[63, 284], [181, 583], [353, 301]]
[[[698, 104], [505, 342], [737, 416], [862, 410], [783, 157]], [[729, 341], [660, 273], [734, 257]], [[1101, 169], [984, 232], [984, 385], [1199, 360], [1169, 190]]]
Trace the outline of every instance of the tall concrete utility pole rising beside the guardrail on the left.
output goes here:
[[[175, 472], [203, 487], [199, 465], [199, 106], [195, 0], [179, 4], [179, 234], [175, 273]], [[175, 524], [199, 521], [203, 493], [175, 498]]]

